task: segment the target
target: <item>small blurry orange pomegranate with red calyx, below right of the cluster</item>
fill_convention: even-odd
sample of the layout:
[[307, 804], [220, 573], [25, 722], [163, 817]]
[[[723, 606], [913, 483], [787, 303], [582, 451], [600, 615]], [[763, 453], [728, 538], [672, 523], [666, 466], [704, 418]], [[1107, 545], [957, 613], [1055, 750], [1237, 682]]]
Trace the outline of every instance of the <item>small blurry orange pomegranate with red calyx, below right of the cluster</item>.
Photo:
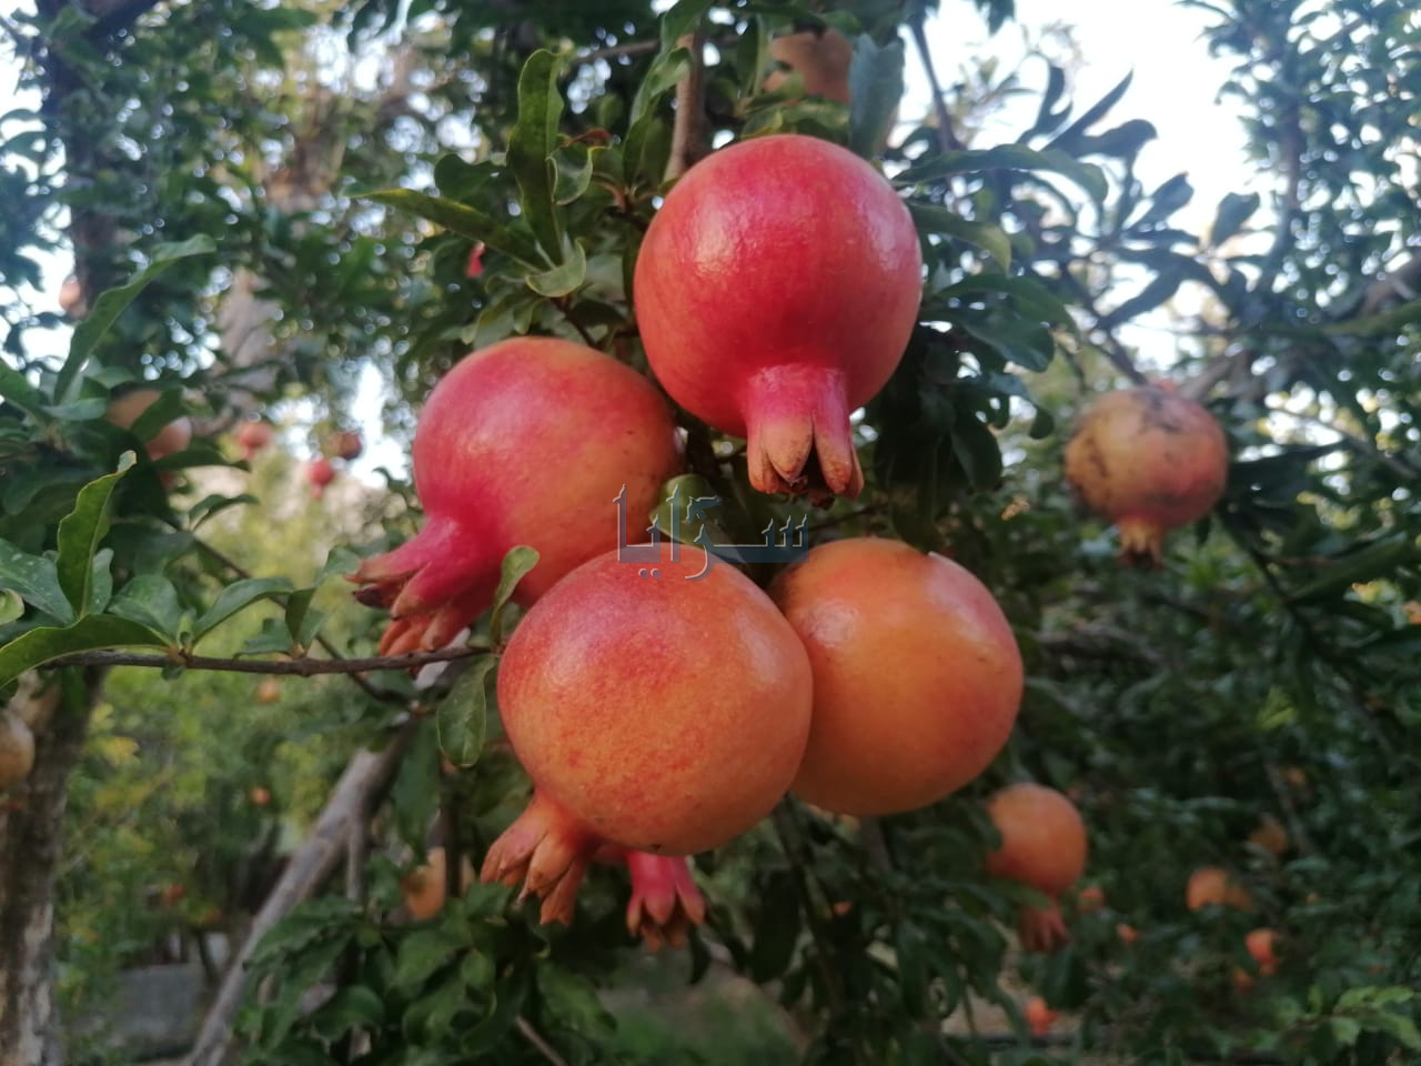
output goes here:
[[1056, 898], [1086, 871], [1086, 824], [1080, 812], [1056, 789], [1020, 782], [995, 793], [986, 813], [1002, 834], [1002, 846], [986, 858], [986, 871], [1052, 900], [1044, 910], [1022, 907], [1017, 922], [1022, 949], [1056, 951], [1070, 940]]

